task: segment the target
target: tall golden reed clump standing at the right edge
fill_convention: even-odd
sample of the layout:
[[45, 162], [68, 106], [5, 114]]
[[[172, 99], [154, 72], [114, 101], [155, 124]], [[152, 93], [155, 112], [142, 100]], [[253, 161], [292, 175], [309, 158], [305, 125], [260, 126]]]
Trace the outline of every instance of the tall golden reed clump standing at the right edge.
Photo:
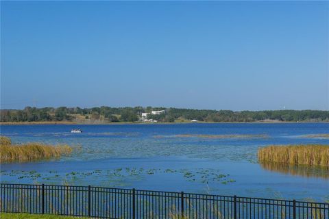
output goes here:
[[329, 166], [329, 145], [300, 144], [266, 146], [258, 149], [258, 162]]

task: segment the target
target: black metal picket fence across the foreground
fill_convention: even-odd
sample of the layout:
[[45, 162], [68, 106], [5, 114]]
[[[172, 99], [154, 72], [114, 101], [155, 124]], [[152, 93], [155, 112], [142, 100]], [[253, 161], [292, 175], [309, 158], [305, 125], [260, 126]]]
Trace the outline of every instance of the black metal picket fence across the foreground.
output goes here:
[[329, 218], [329, 203], [71, 185], [1, 183], [0, 211], [93, 218]]

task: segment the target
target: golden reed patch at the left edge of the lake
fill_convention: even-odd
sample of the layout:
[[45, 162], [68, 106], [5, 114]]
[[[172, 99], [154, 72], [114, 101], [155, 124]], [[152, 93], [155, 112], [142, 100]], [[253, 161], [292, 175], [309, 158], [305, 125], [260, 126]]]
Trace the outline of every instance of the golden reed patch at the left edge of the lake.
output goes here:
[[0, 136], [0, 163], [26, 162], [36, 159], [60, 157], [72, 153], [71, 146], [41, 143], [12, 144], [10, 138]]

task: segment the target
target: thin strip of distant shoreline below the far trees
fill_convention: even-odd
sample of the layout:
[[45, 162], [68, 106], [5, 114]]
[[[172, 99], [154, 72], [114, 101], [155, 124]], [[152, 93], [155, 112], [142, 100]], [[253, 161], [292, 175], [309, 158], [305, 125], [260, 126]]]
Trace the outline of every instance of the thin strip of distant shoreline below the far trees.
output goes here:
[[200, 121], [197, 123], [193, 122], [173, 122], [173, 123], [138, 123], [138, 122], [117, 122], [117, 123], [78, 123], [78, 122], [70, 122], [70, 121], [49, 121], [49, 122], [3, 122], [1, 125], [174, 125], [174, 124], [282, 124], [282, 123], [329, 123], [325, 121], [316, 122], [316, 121], [303, 121], [303, 122], [284, 122], [278, 120], [266, 120], [266, 121], [255, 121], [255, 122], [204, 122]]

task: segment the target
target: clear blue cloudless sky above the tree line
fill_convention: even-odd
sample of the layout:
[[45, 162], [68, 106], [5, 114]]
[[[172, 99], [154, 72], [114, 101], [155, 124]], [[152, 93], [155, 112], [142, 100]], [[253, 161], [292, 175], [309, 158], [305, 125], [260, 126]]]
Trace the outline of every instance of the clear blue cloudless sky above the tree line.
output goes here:
[[328, 1], [1, 1], [1, 108], [329, 110]]

